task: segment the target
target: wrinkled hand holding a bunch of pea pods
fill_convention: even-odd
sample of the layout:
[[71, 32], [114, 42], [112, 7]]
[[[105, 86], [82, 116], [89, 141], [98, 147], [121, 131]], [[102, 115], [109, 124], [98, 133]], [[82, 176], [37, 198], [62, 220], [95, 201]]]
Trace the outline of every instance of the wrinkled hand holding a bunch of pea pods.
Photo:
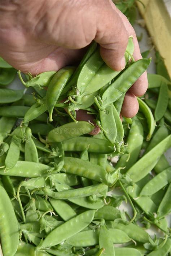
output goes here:
[[[130, 35], [135, 46], [133, 57], [139, 60], [135, 31], [111, 0], [0, 1], [0, 56], [14, 68], [33, 75], [78, 63], [92, 40], [100, 44], [106, 64], [122, 70]], [[145, 72], [127, 92], [123, 116], [135, 116], [135, 96], [143, 95], [147, 87]], [[90, 116], [82, 110], [78, 119], [92, 121]]]

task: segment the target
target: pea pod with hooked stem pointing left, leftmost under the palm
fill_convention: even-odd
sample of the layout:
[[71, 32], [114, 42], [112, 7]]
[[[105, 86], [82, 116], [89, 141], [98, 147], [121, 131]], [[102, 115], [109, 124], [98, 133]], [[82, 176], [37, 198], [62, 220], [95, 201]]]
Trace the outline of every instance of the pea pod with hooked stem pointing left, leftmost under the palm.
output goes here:
[[24, 82], [21, 76], [21, 71], [18, 70], [18, 76], [19, 79], [21, 80], [22, 84], [26, 87], [36, 87], [36, 88], [41, 88], [42, 86], [48, 86], [48, 84], [51, 82], [54, 74], [56, 71], [47, 71], [40, 73], [36, 75], [35, 77], [29, 79], [29, 81]]

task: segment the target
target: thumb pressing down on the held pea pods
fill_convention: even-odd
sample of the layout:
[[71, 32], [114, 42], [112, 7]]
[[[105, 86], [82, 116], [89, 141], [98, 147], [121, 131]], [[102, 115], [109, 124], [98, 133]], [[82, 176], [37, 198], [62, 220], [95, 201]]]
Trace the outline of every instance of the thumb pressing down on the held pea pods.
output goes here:
[[116, 6], [109, 0], [98, 14], [95, 41], [100, 44], [100, 54], [110, 68], [120, 71], [125, 67], [124, 53], [128, 43], [128, 31]]

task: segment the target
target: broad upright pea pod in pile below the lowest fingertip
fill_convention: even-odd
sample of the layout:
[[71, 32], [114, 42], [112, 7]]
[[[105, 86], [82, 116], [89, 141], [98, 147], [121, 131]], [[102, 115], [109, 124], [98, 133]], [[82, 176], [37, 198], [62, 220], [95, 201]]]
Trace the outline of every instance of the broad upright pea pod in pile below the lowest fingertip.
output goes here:
[[122, 170], [122, 173], [126, 172], [133, 164], [135, 164], [139, 157], [143, 139], [143, 127], [141, 122], [134, 119], [127, 139], [128, 154], [123, 154], [115, 166], [116, 168], [125, 167]]

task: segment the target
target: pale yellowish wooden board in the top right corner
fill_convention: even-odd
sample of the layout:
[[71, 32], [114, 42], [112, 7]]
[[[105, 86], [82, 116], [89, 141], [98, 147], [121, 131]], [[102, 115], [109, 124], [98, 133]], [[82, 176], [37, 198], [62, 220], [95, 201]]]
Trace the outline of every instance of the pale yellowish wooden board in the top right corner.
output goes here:
[[156, 49], [164, 58], [166, 68], [171, 77], [171, 18], [166, 2], [164, 3], [162, 0], [143, 0], [142, 3], [145, 8], [138, 1], [137, 6], [145, 19], [146, 27]]

